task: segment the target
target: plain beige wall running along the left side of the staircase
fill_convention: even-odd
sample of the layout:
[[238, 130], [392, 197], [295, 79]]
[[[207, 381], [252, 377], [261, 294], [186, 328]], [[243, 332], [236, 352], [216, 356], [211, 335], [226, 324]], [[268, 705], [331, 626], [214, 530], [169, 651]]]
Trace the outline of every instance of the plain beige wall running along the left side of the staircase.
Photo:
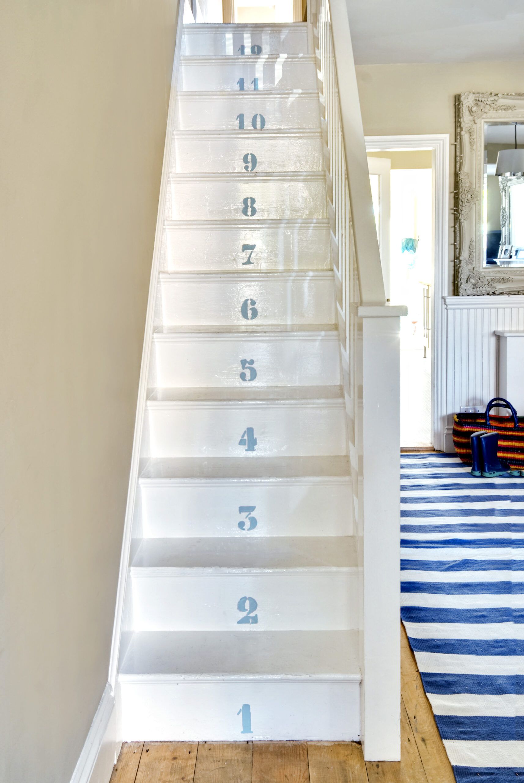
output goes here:
[[175, 5], [0, 9], [5, 783], [67, 783], [106, 684]]

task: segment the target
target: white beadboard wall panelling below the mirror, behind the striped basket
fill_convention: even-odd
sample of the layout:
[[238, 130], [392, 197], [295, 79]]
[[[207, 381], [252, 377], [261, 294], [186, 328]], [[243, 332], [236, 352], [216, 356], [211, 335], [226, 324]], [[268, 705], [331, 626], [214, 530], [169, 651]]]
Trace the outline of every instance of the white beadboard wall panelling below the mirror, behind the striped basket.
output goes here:
[[[453, 414], [499, 394], [497, 330], [524, 329], [524, 296], [444, 297], [447, 334], [446, 450]], [[519, 412], [521, 413], [521, 412]], [[524, 411], [522, 411], [524, 415]]]

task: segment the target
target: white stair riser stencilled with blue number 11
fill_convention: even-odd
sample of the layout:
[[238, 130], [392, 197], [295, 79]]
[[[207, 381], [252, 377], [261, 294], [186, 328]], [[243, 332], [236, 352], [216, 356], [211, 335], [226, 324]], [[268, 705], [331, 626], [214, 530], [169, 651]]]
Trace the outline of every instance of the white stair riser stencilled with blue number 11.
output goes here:
[[[235, 57], [218, 62], [203, 59], [181, 61], [181, 89], [228, 90], [231, 92], [257, 92], [253, 80], [258, 79], [258, 92], [264, 90], [315, 90], [317, 69], [312, 60], [264, 60], [256, 57]], [[244, 80], [244, 90], [239, 80]]]

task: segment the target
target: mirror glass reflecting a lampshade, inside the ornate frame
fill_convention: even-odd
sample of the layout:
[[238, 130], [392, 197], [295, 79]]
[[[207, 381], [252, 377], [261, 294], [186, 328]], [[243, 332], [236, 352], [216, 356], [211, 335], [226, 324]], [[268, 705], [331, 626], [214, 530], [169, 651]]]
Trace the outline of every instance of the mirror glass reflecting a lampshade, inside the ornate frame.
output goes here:
[[[524, 175], [497, 176], [501, 150], [522, 150], [524, 123], [484, 124], [483, 239], [484, 264], [524, 266]], [[508, 157], [508, 155], [506, 155]], [[515, 159], [515, 155], [509, 156]], [[520, 156], [517, 156], [520, 157]], [[500, 168], [500, 167], [499, 167]]]

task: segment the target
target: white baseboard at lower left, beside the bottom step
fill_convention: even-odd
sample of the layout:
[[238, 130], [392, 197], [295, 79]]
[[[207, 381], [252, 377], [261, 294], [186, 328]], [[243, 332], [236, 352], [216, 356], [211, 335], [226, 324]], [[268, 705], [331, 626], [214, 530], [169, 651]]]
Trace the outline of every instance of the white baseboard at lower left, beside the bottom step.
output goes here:
[[107, 683], [70, 783], [109, 783], [120, 744], [115, 697]]

